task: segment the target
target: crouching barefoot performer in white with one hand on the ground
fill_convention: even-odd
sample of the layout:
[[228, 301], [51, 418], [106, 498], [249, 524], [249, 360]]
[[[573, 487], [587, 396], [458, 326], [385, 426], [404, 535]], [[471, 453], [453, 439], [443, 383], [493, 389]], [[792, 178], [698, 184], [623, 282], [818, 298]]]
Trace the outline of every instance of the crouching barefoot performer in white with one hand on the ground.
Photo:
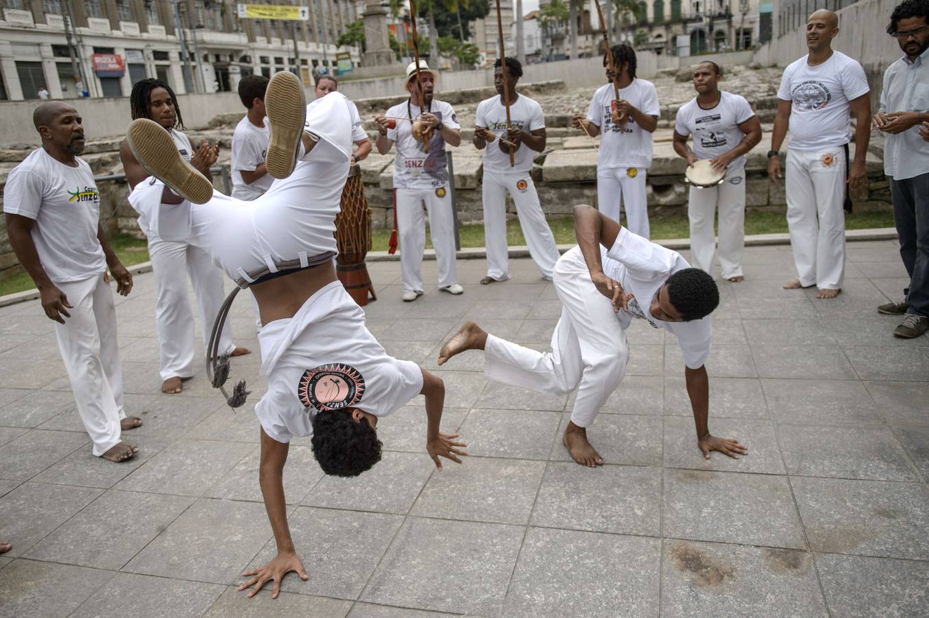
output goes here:
[[673, 333], [684, 353], [687, 394], [703, 456], [709, 458], [710, 451], [746, 455], [748, 449], [737, 441], [712, 435], [707, 421], [710, 380], [704, 363], [710, 354], [710, 314], [719, 303], [713, 277], [589, 206], [574, 208], [574, 228], [579, 246], [555, 266], [562, 309], [552, 352], [505, 341], [468, 322], [442, 347], [438, 364], [465, 350], [484, 350], [484, 372], [490, 380], [553, 394], [577, 388], [563, 441], [575, 461], [595, 467], [603, 459], [587, 440], [587, 428], [625, 375], [626, 328], [634, 317], [644, 319], [652, 328]]

